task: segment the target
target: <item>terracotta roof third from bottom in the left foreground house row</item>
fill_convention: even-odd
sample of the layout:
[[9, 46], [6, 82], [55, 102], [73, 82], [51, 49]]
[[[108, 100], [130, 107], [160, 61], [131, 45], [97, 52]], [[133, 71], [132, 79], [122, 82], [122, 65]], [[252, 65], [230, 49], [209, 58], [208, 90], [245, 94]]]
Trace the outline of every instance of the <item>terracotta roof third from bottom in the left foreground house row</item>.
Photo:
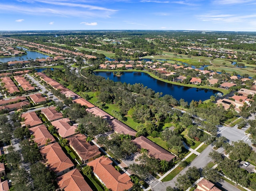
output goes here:
[[29, 128], [29, 131], [30, 134], [35, 136], [34, 141], [38, 144], [38, 147], [44, 146], [48, 139], [51, 140], [50, 143], [55, 142], [54, 137], [50, 134], [44, 124]]

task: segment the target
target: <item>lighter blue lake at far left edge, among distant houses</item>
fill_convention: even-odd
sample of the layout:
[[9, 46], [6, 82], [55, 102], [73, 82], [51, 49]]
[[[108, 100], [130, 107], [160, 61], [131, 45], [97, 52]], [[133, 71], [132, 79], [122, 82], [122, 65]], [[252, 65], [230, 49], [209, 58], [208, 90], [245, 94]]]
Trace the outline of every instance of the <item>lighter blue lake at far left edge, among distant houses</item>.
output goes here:
[[27, 54], [21, 55], [21, 56], [12, 56], [12, 57], [1, 57], [0, 62], [9, 62], [9, 61], [19, 61], [20, 59], [23, 60], [30, 60], [30, 59], [36, 59], [36, 58], [46, 58], [48, 55], [36, 52], [36, 51], [27, 51]]

